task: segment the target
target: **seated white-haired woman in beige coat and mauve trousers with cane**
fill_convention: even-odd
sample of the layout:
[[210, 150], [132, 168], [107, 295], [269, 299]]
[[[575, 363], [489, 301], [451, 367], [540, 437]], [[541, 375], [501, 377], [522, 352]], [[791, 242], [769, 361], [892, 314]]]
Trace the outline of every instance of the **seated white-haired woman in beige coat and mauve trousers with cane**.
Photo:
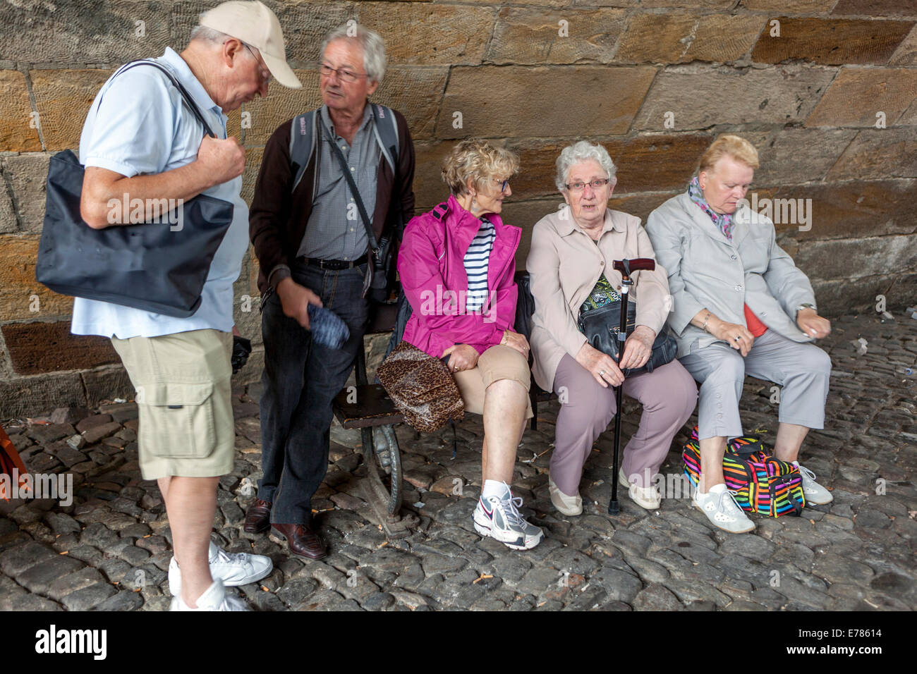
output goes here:
[[[654, 479], [672, 437], [697, 402], [697, 387], [677, 360], [626, 380], [614, 360], [587, 342], [577, 327], [580, 307], [620, 299], [621, 274], [614, 260], [653, 258], [640, 219], [608, 208], [615, 166], [601, 145], [584, 140], [565, 148], [557, 161], [558, 190], [567, 205], [541, 218], [532, 232], [527, 268], [535, 315], [532, 354], [535, 381], [558, 393], [561, 406], [548, 486], [563, 514], [582, 512], [580, 478], [592, 443], [611, 421], [614, 386], [643, 403], [640, 426], [624, 447], [621, 480], [644, 508], [659, 505]], [[624, 342], [621, 368], [640, 368], [668, 315], [666, 271], [636, 271], [631, 297], [636, 327]]]

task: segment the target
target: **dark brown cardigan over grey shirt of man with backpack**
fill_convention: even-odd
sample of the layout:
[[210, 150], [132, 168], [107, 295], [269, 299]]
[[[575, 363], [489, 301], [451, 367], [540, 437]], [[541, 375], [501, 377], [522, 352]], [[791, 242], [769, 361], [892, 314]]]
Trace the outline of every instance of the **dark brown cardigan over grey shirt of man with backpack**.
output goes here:
[[[383, 231], [392, 231], [391, 227], [400, 218], [407, 222], [414, 216], [414, 143], [404, 116], [397, 110], [392, 112], [398, 123], [398, 184], [394, 184], [395, 176], [388, 162], [380, 159], [376, 176], [376, 207], [372, 214], [372, 230], [377, 239], [381, 238]], [[255, 195], [249, 209], [249, 237], [260, 265], [258, 288], [262, 294], [270, 287], [268, 279], [271, 271], [278, 265], [292, 265], [312, 212], [318, 143], [314, 144], [303, 179], [291, 193], [297, 170], [290, 163], [292, 122], [293, 119], [289, 119], [277, 127], [264, 148]], [[284, 276], [276, 274], [271, 282], [276, 284]]]

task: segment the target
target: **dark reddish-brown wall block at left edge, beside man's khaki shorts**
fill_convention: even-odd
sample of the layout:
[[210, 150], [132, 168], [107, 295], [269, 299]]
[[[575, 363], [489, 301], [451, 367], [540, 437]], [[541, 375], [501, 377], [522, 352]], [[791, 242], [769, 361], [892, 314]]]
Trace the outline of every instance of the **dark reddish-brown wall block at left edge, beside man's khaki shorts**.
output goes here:
[[26, 375], [84, 370], [118, 362], [110, 339], [72, 335], [70, 326], [70, 321], [9, 323], [3, 326], [13, 369]]

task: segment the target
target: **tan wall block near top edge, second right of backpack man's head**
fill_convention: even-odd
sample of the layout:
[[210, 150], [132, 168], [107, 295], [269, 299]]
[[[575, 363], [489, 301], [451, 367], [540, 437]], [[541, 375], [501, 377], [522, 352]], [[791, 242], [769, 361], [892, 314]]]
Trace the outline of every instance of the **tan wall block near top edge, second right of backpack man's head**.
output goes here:
[[484, 60], [533, 65], [607, 63], [612, 61], [614, 45], [623, 29], [624, 10], [620, 9], [570, 12], [503, 7]]

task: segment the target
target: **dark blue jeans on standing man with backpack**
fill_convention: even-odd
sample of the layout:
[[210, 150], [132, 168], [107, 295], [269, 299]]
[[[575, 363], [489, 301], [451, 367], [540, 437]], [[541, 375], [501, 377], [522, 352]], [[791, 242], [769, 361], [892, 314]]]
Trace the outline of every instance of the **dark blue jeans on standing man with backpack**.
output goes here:
[[280, 298], [264, 303], [264, 373], [261, 375], [261, 470], [258, 498], [273, 503], [271, 523], [307, 525], [312, 496], [328, 469], [331, 403], [344, 388], [369, 319], [360, 297], [366, 265], [320, 270], [297, 262], [293, 281], [317, 294], [322, 304], [347, 323], [350, 338], [342, 348], [312, 341], [311, 333], [283, 315]]

